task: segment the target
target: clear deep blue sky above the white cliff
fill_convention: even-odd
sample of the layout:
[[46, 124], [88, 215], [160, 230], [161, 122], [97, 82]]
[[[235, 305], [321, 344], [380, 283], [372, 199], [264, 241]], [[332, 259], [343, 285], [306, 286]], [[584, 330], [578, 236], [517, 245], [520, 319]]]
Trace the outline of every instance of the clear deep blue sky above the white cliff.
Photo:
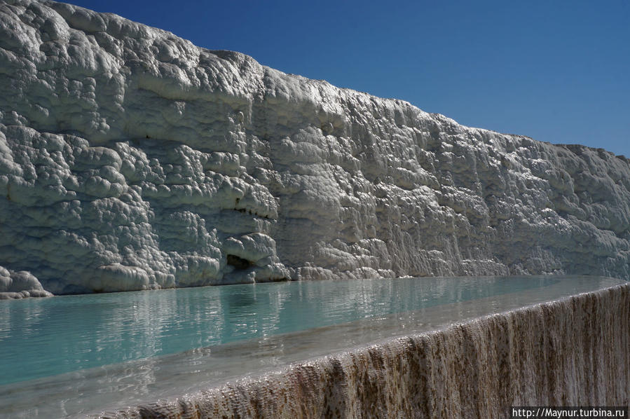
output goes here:
[[459, 123], [630, 158], [630, 1], [74, 0]]

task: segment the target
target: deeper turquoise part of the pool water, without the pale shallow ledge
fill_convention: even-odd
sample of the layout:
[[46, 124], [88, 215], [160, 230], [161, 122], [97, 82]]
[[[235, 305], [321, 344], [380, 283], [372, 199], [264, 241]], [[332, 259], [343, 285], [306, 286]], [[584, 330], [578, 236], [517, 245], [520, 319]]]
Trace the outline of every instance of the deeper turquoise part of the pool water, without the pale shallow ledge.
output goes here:
[[284, 282], [0, 303], [0, 385], [469, 301], [552, 277]]

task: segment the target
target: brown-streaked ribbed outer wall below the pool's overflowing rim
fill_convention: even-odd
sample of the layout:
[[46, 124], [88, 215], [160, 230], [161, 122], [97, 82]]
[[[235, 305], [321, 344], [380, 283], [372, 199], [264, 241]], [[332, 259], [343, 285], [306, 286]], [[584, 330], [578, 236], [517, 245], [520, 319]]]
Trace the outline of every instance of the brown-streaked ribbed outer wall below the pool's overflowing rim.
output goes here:
[[630, 284], [293, 364], [102, 418], [505, 418], [629, 406]]

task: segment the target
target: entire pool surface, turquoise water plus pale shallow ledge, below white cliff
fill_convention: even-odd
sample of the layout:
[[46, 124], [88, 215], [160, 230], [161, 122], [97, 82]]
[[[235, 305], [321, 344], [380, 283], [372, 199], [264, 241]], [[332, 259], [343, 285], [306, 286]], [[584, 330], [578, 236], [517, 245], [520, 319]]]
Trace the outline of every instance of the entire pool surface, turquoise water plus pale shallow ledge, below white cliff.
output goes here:
[[0, 417], [64, 417], [173, 397], [623, 282], [399, 278], [0, 301]]

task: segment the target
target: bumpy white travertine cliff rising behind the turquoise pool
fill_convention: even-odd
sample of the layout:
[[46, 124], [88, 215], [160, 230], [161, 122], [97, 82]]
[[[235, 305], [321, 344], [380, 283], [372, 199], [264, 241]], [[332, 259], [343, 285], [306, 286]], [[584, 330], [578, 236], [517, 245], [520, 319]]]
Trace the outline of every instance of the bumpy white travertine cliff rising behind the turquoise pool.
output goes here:
[[0, 4], [0, 265], [55, 294], [628, 277], [630, 170], [52, 1]]

